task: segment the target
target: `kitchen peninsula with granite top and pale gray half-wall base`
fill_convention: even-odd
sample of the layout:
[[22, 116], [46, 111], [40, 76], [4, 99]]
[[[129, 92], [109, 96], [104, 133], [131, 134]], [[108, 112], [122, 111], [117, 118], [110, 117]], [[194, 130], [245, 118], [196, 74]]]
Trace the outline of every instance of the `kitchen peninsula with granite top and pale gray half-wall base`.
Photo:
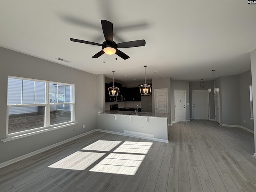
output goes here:
[[168, 116], [152, 112], [107, 110], [99, 113], [101, 131], [168, 142]]

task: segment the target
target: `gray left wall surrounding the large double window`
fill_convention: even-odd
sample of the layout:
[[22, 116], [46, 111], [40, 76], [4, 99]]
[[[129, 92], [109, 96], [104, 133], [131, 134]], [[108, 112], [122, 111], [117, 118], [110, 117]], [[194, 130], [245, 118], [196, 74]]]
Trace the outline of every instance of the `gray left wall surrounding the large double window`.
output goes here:
[[[0, 163], [96, 128], [96, 114], [98, 112], [96, 75], [5, 48], [0, 48], [0, 82], [2, 86], [0, 91], [0, 138], [6, 137], [8, 75], [75, 84], [75, 114], [76, 122], [78, 123], [73, 126], [8, 142], [0, 141]], [[85, 125], [84, 129], [82, 128], [82, 125]]]

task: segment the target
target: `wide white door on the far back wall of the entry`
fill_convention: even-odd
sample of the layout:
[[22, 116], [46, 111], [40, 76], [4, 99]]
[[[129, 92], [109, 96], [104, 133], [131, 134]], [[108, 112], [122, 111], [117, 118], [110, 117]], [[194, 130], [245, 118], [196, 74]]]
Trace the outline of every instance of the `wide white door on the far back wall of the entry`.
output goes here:
[[208, 90], [192, 91], [193, 118], [209, 120], [208, 107]]

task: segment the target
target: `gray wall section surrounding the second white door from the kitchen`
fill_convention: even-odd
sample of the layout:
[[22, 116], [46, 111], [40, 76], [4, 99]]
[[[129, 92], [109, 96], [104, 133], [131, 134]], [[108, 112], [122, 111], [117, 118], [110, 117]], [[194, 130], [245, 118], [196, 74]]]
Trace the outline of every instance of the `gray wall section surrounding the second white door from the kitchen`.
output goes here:
[[170, 100], [171, 100], [171, 121], [175, 121], [175, 100], [174, 100], [174, 90], [186, 90], [186, 120], [190, 120], [190, 109], [189, 105], [189, 84], [188, 81], [182, 80], [171, 80], [171, 89], [170, 89]]

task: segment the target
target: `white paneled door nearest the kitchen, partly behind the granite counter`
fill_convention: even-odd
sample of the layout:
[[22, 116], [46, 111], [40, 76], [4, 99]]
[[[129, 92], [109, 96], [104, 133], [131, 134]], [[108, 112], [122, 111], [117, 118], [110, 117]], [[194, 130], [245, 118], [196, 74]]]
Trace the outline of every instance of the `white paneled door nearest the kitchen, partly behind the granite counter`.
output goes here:
[[168, 100], [167, 89], [155, 89], [155, 112], [167, 113]]

